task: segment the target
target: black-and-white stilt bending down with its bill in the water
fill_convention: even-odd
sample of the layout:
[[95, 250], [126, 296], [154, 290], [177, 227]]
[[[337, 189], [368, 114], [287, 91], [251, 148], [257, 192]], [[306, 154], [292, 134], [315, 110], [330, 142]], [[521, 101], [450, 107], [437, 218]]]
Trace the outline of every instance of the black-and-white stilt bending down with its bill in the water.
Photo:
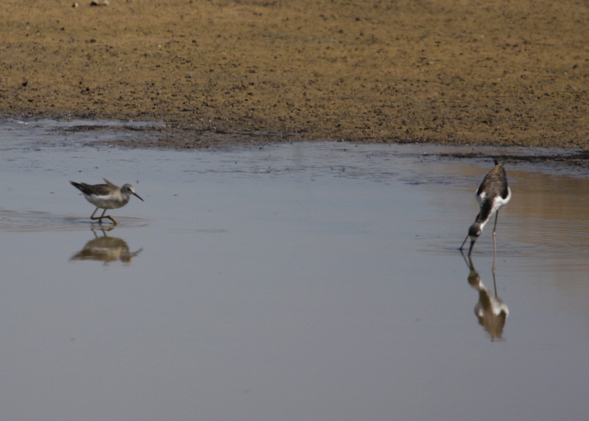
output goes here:
[[497, 229], [497, 217], [499, 216], [499, 209], [507, 205], [511, 199], [511, 189], [507, 185], [507, 175], [505, 175], [505, 168], [494, 159], [495, 167], [482, 180], [481, 185], [477, 190], [477, 200], [480, 205], [480, 210], [475, 219], [475, 222], [468, 229], [468, 235], [460, 246], [460, 251], [464, 248], [466, 240], [471, 238], [471, 247], [468, 249], [468, 255], [471, 255], [472, 246], [481, 235], [482, 229], [487, 224], [493, 213], [495, 213], [495, 225], [493, 226], [493, 253], [497, 253], [497, 246], [495, 245], [495, 229]]

